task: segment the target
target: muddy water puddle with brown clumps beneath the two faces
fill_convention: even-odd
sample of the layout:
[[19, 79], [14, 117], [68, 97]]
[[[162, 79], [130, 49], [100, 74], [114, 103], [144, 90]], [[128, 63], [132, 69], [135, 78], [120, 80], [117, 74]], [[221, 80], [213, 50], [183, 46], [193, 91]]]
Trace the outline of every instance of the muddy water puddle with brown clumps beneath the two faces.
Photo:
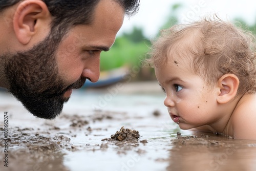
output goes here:
[[[2, 161], [0, 170], [256, 170], [256, 141], [182, 131], [163, 98], [75, 91], [63, 113], [48, 121], [2, 93], [0, 112], [9, 115], [8, 167]], [[122, 126], [135, 132], [121, 132]], [[4, 158], [3, 129], [0, 135]]]

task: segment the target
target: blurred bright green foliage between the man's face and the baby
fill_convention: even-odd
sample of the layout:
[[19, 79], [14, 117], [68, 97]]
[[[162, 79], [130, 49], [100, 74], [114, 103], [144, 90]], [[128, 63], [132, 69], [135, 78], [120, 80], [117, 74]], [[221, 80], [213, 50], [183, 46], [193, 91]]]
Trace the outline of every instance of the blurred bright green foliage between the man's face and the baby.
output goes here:
[[[143, 35], [141, 28], [134, 27], [131, 33], [123, 33], [116, 38], [109, 52], [102, 52], [100, 58], [100, 69], [111, 70], [122, 66], [139, 69], [142, 67], [141, 60], [145, 58], [151, 41]], [[140, 74], [133, 76], [133, 80], [140, 79]]]

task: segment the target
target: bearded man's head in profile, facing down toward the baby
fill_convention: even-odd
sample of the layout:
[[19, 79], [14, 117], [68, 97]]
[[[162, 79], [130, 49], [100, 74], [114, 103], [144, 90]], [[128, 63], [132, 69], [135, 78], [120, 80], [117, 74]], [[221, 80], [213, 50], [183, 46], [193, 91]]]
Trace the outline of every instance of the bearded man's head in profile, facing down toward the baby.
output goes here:
[[100, 52], [113, 45], [124, 14], [139, 6], [130, 0], [1, 3], [3, 29], [11, 30], [0, 39], [3, 84], [32, 114], [47, 119], [61, 112], [72, 89], [98, 80]]

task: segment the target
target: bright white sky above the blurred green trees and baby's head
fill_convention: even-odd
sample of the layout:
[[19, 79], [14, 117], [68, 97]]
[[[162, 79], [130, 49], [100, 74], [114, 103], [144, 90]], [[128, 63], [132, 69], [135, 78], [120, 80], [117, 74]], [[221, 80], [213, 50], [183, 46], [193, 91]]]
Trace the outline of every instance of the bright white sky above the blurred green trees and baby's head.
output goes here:
[[253, 0], [140, 0], [140, 4], [136, 15], [125, 17], [118, 35], [129, 33], [136, 26], [143, 29], [144, 36], [153, 38], [167, 21], [174, 4], [182, 4], [177, 11], [179, 23], [214, 13], [223, 20], [241, 17], [249, 25], [256, 22], [256, 2]]

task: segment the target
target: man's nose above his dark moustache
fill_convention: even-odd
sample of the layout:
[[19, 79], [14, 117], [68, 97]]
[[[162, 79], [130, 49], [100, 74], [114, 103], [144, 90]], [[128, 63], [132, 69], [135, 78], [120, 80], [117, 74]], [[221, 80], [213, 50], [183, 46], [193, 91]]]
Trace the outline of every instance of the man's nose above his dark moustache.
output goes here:
[[100, 75], [100, 56], [93, 56], [84, 62], [82, 77], [87, 77], [92, 82], [99, 80]]

